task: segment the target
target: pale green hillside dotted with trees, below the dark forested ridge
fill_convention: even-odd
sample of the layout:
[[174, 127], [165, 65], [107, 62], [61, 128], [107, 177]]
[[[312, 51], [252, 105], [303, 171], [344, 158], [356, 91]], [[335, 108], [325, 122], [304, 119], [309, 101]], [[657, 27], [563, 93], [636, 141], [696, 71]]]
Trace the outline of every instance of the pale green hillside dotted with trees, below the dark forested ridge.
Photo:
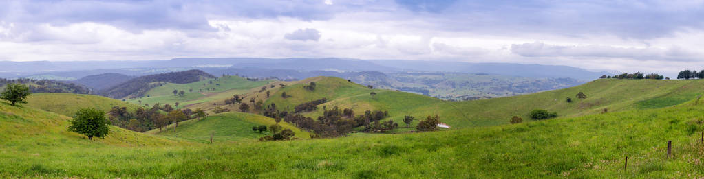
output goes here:
[[[263, 86], [269, 82], [270, 81], [249, 81], [243, 77], [227, 76], [218, 77], [218, 79], [203, 79], [189, 84], [166, 83], [147, 91], [142, 98], [133, 98], [127, 101], [139, 104], [141, 100], [142, 104], [153, 105], [159, 102], [162, 105], [170, 104], [172, 106], [175, 102], [179, 102], [180, 107], [182, 107], [214, 100], [211, 96], [222, 95], [221, 93], [225, 93], [227, 97], [232, 98], [234, 94], [245, 93], [251, 88]], [[213, 88], [215, 89], [213, 90]], [[174, 90], [184, 91], [186, 93], [183, 96], [174, 95], [172, 93]]]

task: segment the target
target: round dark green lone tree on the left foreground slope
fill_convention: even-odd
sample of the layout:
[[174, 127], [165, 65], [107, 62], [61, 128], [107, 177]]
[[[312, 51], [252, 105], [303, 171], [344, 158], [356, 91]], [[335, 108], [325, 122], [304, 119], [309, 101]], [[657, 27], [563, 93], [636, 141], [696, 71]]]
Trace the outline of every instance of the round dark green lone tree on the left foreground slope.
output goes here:
[[104, 138], [110, 133], [110, 121], [105, 119], [105, 112], [94, 108], [78, 110], [70, 123], [68, 131], [86, 135], [89, 140], [93, 140], [93, 137]]

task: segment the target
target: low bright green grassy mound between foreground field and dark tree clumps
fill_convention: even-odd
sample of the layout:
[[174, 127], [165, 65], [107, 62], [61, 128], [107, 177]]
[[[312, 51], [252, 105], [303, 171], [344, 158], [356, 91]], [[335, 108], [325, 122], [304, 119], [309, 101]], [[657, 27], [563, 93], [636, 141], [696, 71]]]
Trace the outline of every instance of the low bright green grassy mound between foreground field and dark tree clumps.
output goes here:
[[[270, 126], [275, 123], [276, 121], [274, 121], [274, 119], [257, 114], [227, 112], [215, 114], [201, 120], [184, 121], [179, 124], [175, 131], [172, 125], [162, 132], [158, 132], [159, 129], [156, 129], [147, 133], [186, 138], [198, 142], [210, 142], [210, 133], [213, 133], [214, 142], [237, 140], [253, 141], [258, 140], [258, 138], [265, 135], [270, 135], [270, 133], [254, 132], [252, 131], [252, 126]], [[296, 133], [296, 138], [310, 138], [310, 133], [307, 131], [302, 131], [301, 129], [296, 128], [296, 126], [287, 124], [284, 121], [280, 122], [279, 125], [293, 130], [294, 133]]]

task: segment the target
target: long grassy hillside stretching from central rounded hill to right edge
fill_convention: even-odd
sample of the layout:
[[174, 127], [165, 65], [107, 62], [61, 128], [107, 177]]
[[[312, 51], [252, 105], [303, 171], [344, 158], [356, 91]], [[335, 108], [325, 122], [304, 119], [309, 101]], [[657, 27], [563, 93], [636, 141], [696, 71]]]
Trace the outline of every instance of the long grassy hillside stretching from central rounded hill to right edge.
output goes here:
[[[303, 85], [307, 84], [307, 81], [315, 81], [318, 88], [315, 91], [306, 91]], [[514, 115], [529, 119], [529, 112], [536, 109], [558, 112], [560, 117], [577, 117], [598, 114], [605, 108], [615, 112], [667, 107], [696, 98], [697, 95], [704, 93], [696, 90], [700, 88], [704, 88], [704, 80], [599, 79], [581, 86], [555, 91], [488, 100], [449, 102], [405, 92], [372, 90], [334, 77], [316, 77], [277, 91], [266, 101], [266, 104], [275, 102], [279, 108], [285, 110], [289, 107], [289, 110], [292, 110], [295, 105], [302, 102], [328, 98], [329, 102], [321, 106], [351, 107], [356, 114], [362, 114], [365, 110], [388, 110], [390, 119], [399, 124], [406, 115], [422, 118], [439, 114], [442, 122], [453, 128], [463, 128], [508, 124], [510, 117]], [[370, 95], [372, 91], [377, 95], [372, 97]], [[587, 95], [586, 99], [575, 97], [580, 91]], [[282, 98], [283, 92], [291, 95], [291, 98]], [[572, 98], [573, 102], [566, 102], [568, 97]], [[322, 114], [320, 108], [322, 107], [319, 107], [317, 112], [306, 115], [319, 116]]]

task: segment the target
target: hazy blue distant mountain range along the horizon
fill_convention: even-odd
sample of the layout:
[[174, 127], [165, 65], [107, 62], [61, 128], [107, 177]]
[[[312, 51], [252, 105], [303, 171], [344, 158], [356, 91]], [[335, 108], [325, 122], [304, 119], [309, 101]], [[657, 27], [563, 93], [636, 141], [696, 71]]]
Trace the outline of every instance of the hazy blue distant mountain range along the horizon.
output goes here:
[[[108, 72], [129, 76], [142, 76], [187, 69], [202, 69], [212, 74], [247, 70], [289, 70], [286, 74], [295, 79], [310, 77], [314, 71], [334, 72], [461, 72], [468, 74], [501, 74], [515, 77], [545, 77], [597, 79], [609, 72], [558, 65], [524, 65], [513, 63], [469, 63], [413, 60], [358, 60], [351, 58], [175, 58], [172, 60], [145, 61], [73, 61], [73, 62], [0, 62], [0, 77], [41, 77], [46, 79], [80, 79]], [[304, 74], [296, 74], [303, 72]], [[253, 73], [253, 72], [249, 72]], [[272, 72], [273, 73], [273, 72]], [[315, 73], [315, 72], [314, 72]], [[260, 76], [260, 75], [258, 75]], [[284, 78], [285, 79], [285, 78]]]

